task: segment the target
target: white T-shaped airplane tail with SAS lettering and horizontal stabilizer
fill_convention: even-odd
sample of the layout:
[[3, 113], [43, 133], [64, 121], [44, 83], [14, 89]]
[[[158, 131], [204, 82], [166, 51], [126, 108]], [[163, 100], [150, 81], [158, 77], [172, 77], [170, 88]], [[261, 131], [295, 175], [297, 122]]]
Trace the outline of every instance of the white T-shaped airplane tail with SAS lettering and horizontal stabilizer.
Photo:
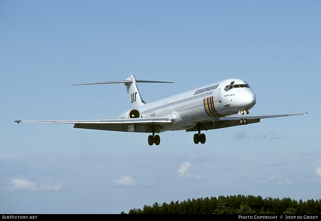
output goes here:
[[[109, 81], [109, 82], [100, 82], [100, 83], [89, 83], [89, 84], [114, 84], [114, 83], [125, 83], [129, 100], [132, 104], [132, 108], [137, 108], [145, 104], [142, 99], [142, 96], [139, 93], [136, 82], [138, 83], [174, 83], [166, 81], [142, 81], [135, 79], [134, 75], [130, 75], [124, 81]], [[72, 85], [86, 85], [86, 84], [72, 84]]]

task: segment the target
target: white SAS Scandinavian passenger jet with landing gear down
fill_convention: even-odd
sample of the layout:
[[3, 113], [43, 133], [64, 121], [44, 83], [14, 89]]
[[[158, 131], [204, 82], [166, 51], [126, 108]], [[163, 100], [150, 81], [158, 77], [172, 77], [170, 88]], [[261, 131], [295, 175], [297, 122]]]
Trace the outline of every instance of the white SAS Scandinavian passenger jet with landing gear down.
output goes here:
[[[173, 83], [164, 81], [136, 80], [134, 75], [124, 81], [100, 82], [89, 84], [126, 85], [132, 109], [121, 114], [118, 119], [98, 120], [16, 120], [14, 122], [70, 123], [74, 128], [111, 130], [124, 132], [152, 133], [148, 136], [149, 145], [159, 145], [160, 133], [168, 130], [197, 131], [195, 144], [204, 144], [206, 137], [202, 130], [227, 128], [260, 122], [260, 119], [306, 115], [304, 113], [247, 115], [256, 103], [256, 96], [243, 80], [230, 78], [177, 93], [160, 100], [147, 103], [143, 101], [136, 83]], [[88, 84], [73, 84], [88, 85]], [[239, 115], [237, 115], [239, 114]], [[241, 114], [241, 115], [240, 115]]]

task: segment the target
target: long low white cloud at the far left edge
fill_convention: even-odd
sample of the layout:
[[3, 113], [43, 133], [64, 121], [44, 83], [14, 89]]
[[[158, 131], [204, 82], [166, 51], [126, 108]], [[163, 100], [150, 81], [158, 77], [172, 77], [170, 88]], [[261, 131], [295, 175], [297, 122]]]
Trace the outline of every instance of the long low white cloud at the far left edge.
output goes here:
[[63, 190], [64, 187], [61, 182], [58, 182], [56, 184], [52, 183], [45, 183], [42, 184], [41, 187], [38, 187], [36, 183], [29, 182], [26, 179], [13, 179], [10, 182], [11, 186], [5, 187], [2, 186], [1, 190], [7, 190], [7, 191], [13, 191], [13, 190], [28, 190], [31, 192], [35, 191], [59, 191]]

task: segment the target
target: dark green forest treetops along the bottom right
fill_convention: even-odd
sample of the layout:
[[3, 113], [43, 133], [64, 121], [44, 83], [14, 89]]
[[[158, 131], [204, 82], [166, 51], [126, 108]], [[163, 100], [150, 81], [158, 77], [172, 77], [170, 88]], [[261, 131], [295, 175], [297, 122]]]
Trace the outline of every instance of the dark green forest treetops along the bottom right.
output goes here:
[[[128, 214], [320, 214], [321, 199], [299, 202], [290, 198], [262, 199], [261, 196], [219, 196], [211, 198], [171, 201], [160, 205], [144, 205], [143, 209], [131, 209]], [[120, 214], [127, 214], [124, 211]]]

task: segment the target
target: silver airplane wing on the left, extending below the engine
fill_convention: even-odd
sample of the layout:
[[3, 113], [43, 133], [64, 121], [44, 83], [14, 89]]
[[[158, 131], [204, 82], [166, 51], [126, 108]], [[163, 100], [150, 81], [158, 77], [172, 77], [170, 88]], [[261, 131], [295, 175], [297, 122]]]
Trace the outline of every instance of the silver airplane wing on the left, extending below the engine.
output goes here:
[[74, 128], [113, 130], [124, 132], [160, 133], [160, 127], [172, 123], [169, 117], [161, 118], [128, 118], [102, 120], [16, 120], [14, 122], [31, 123], [67, 123], [74, 124]]

